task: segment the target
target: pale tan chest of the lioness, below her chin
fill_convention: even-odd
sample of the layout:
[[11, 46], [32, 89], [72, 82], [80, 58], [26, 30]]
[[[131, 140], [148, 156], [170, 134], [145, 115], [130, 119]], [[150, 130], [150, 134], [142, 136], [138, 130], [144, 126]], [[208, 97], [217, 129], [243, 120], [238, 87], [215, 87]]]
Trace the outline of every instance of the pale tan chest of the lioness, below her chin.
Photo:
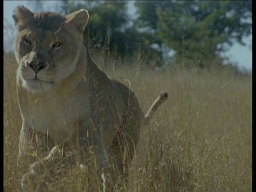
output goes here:
[[[31, 130], [48, 134], [54, 141], [62, 142], [90, 119], [90, 94], [74, 91], [66, 95], [40, 94], [20, 99], [25, 123]], [[89, 123], [89, 122], [88, 122]]]

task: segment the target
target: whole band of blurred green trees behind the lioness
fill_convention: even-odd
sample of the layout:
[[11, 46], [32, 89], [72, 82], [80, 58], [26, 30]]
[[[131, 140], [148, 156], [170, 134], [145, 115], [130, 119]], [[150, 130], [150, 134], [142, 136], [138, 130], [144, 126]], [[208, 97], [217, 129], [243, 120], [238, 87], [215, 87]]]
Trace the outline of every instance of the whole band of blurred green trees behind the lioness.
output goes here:
[[89, 10], [87, 45], [121, 57], [140, 51], [147, 60], [163, 61], [167, 46], [176, 51], [177, 63], [221, 64], [225, 58], [220, 52], [234, 39], [243, 44], [242, 37], [252, 33], [251, 1], [136, 1], [134, 5], [137, 18], [128, 15], [127, 1], [62, 1], [60, 7], [66, 14]]

